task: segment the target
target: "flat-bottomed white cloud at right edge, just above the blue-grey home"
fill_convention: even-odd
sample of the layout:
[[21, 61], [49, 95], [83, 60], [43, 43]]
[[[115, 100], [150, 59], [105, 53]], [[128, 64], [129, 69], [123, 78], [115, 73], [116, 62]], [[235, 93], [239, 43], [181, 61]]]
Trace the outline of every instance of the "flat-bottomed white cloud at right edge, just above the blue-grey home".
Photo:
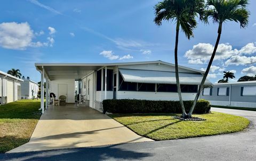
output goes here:
[[225, 62], [225, 65], [251, 65], [256, 63], [256, 56], [246, 57], [235, 55]]

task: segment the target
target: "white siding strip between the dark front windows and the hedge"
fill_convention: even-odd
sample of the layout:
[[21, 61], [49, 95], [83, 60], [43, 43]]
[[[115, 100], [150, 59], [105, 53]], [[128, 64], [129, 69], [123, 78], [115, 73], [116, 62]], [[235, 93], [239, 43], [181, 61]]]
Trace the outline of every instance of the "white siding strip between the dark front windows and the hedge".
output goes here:
[[[175, 92], [117, 91], [117, 99], [179, 100]], [[194, 100], [196, 94], [182, 93], [183, 100]]]

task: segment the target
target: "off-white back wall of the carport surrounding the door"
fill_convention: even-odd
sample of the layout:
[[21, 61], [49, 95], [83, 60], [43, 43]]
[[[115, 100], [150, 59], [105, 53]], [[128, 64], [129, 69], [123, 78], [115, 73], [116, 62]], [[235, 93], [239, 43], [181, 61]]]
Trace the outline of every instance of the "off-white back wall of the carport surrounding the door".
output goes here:
[[75, 79], [51, 81], [51, 92], [53, 92], [56, 95], [56, 98], [59, 98], [58, 84], [67, 84], [68, 85], [67, 102], [75, 103]]

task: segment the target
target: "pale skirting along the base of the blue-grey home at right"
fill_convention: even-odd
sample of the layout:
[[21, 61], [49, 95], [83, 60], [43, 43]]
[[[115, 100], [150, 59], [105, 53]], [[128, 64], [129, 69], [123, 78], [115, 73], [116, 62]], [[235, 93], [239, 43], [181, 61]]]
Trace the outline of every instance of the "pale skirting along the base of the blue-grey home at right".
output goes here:
[[256, 108], [256, 103], [246, 103], [246, 102], [237, 102], [237, 101], [214, 101], [209, 100], [211, 105], [216, 106], [234, 106], [234, 107], [250, 107]]

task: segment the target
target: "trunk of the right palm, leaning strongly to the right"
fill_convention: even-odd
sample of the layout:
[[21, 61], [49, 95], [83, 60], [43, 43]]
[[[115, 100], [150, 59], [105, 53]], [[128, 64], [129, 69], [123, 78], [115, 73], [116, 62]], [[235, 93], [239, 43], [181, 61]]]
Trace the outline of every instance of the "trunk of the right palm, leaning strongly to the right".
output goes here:
[[208, 73], [209, 73], [209, 71], [210, 71], [210, 68], [211, 68], [211, 65], [212, 65], [214, 56], [215, 56], [215, 54], [216, 54], [216, 51], [217, 51], [217, 48], [218, 48], [218, 45], [219, 45], [219, 42], [220, 42], [221, 31], [222, 31], [222, 22], [219, 23], [218, 37], [217, 37], [217, 40], [216, 40], [216, 43], [215, 43], [215, 46], [214, 46], [214, 49], [213, 49], [213, 53], [212, 53], [211, 59], [210, 59], [210, 61], [209, 61], [209, 64], [208, 64], [208, 66], [207, 66], [207, 69], [206, 69], [206, 71], [205, 71], [205, 73], [204, 73], [204, 77], [203, 77], [203, 79], [202, 79], [202, 81], [201, 81], [201, 84], [200, 84], [200, 86], [199, 86], [199, 89], [198, 89], [198, 91], [197, 91], [197, 94], [196, 94], [195, 100], [194, 100], [194, 102], [193, 102], [193, 105], [192, 105], [192, 107], [191, 107], [190, 110], [189, 110], [188, 117], [191, 117], [191, 116], [192, 116], [192, 113], [193, 113], [193, 111], [194, 111], [194, 108], [196, 107], [197, 100], [198, 100], [198, 98], [199, 98], [199, 96], [200, 96], [201, 91], [203, 90], [204, 82], [205, 82], [206, 77], [207, 77], [207, 75], [208, 75]]

